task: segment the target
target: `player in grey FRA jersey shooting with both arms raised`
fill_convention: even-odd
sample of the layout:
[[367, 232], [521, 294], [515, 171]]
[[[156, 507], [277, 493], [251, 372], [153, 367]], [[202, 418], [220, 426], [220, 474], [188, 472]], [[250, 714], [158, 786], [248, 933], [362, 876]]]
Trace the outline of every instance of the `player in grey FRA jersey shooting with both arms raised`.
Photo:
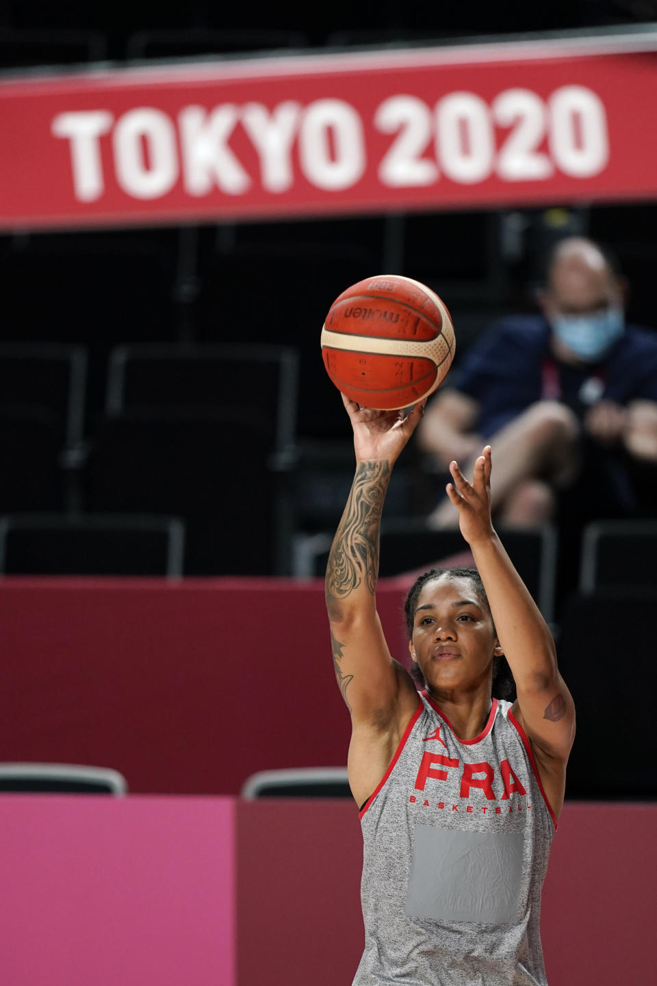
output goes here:
[[[541, 888], [575, 714], [555, 644], [491, 523], [491, 448], [447, 495], [475, 570], [434, 571], [406, 603], [425, 689], [376, 612], [381, 509], [421, 419], [360, 407], [356, 476], [326, 572], [338, 683], [352, 715], [365, 947], [354, 986], [546, 986]], [[517, 699], [492, 694], [505, 656]]]

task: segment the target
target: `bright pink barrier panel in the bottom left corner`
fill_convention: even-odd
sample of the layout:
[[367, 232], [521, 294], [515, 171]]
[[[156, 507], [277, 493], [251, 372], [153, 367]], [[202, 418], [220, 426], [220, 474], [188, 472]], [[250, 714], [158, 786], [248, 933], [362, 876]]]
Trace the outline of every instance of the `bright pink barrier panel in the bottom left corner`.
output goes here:
[[12, 986], [234, 986], [230, 798], [0, 798]]

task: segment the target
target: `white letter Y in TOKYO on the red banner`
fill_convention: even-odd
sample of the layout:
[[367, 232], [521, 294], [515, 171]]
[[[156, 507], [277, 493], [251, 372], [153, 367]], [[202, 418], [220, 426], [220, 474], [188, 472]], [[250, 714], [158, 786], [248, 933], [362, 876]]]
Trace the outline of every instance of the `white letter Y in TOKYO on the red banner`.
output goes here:
[[272, 113], [260, 103], [242, 109], [242, 126], [260, 157], [260, 176], [267, 191], [286, 191], [294, 183], [292, 145], [300, 106], [281, 103]]

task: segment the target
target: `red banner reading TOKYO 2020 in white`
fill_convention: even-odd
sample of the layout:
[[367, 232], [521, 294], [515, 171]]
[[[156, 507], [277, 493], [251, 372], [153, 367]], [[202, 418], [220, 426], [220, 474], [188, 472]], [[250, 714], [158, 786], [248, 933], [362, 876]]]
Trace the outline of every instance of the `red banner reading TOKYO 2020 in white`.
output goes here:
[[657, 195], [657, 35], [0, 83], [0, 227]]

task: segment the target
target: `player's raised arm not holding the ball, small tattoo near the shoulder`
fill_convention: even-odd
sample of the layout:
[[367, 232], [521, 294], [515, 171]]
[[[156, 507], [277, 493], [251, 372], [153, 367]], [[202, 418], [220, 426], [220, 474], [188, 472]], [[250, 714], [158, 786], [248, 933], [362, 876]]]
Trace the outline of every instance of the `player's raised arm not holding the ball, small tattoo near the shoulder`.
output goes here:
[[550, 628], [516, 572], [491, 522], [491, 447], [475, 463], [472, 485], [456, 462], [447, 495], [459, 510], [493, 613], [497, 639], [513, 674], [525, 731], [550, 757], [567, 760], [575, 707], [559, 674]]

